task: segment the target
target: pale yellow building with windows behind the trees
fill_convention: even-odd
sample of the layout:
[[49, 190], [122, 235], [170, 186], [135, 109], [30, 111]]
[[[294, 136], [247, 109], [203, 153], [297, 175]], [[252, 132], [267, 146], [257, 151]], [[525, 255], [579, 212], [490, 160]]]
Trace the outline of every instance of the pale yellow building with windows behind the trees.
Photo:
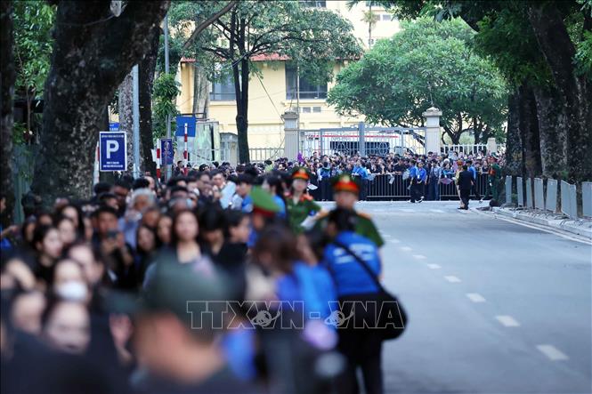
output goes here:
[[[375, 23], [369, 37], [368, 4], [357, 4], [347, 9], [345, 1], [316, 1], [316, 6], [326, 7], [341, 14], [353, 24], [353, 34], [368, 48], [377, 39], [393, 36], [399, 30], [398, 20], [393, 20], [385, 9], [372, 6]], [[251, 75], [248, 101], [248, 143], [249, 148], [278, 148], [283, 146], [283, 121], [281, 115], [289, 108], [300, 108], [300, 128], [319, 129], [320, 127], [345, 127], [355, 125], [363, 117], [340, 117], [327, 105], [327, 92], [333, 83], [312, 85], [300, 78], [300, 100], [296, 99], [296, 69], [290, 68], [279, 56], [259, 56], [257, 62], [262, 77]], [[347, 61], [339, 62], [334, 68], [335, 75]], [[179, 65], [181, 94], [177, 98], [177, 108], [181, 113], [191, 113], [194, 92], [193, 60], [183, 59]], [[209, 84], [207, 117], [218, 121], [221, 133], [237, 133], [236, 104], [234, 87], [228, 83]]]

